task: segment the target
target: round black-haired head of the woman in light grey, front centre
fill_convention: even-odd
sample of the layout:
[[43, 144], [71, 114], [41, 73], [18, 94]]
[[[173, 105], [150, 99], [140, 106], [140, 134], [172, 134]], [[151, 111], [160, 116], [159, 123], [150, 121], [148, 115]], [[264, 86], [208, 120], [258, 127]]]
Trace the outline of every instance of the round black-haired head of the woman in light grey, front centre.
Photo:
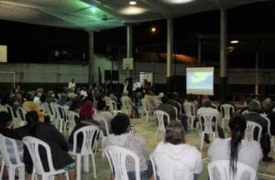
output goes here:
[[121, 135], [129, 131], [130, 119], [127, 114], [119, 113], [111, 121], [111, 129], [115, 135]]

